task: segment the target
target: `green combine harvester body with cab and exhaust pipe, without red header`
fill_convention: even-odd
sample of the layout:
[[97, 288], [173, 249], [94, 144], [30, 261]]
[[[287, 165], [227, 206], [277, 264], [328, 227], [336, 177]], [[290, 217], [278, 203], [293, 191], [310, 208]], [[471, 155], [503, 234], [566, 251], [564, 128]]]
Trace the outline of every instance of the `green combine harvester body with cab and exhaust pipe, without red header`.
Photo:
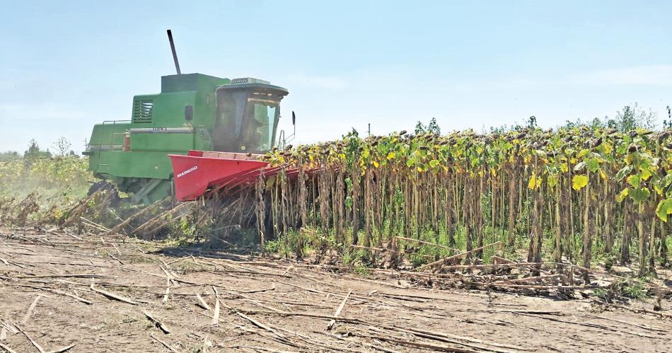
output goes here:
[[[161, 77], [161, 93], [134, 96], [131, 120], [93, 127], [83, 154], [102, 181], [91, 186], [90, 195], [116, 188], [132, 195], [129, 202], [155, 202], [175, 195], [168, 154], [198, 150], [250, 156], [276, 145], [279, 104], [289, 93], [285, 88], [252, 78], [182, 74], [170, 30], [168, 39], [177, 74]], [[278, 140], [286, 142], [284, 132]]]

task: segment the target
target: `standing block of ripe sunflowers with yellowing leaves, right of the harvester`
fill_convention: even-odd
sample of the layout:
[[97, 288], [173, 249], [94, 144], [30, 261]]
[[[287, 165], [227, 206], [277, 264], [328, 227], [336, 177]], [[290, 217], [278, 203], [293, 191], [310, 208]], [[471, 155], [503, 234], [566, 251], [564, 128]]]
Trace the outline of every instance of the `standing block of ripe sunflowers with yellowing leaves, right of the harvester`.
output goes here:
[[337, 251], [350, 244], [381, 248], [402, 236], [467, 251], [499, 240], [521, 255], [516, 245], [525, 241], [529, 261], [586, 268], [596, 249], [630, 262], [637, 239], [639, 272], [646, 274], [656, 258], [667, 260], [671, 149], [668, 131], [642, 129], [400, 132], [365, 139], [353, 132], [267, 154], [287, 171], [257, 183], [269, 195], [257, 192], [258, 202], [270, 202], [257, 216], [272, 226], [257, 224], [275, 236], [318, 229]]

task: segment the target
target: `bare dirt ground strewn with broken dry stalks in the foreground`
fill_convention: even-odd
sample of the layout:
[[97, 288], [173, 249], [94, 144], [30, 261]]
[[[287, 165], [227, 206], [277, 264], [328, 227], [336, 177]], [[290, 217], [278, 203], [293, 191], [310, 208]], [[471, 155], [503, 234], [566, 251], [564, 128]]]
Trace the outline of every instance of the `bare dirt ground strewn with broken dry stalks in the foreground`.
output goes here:
[[[670, 311], [641, 311], [651, 311], [650, 302], [615, 308], [590, 298], [412, 288], [381, 276], [168, 251], [137, 239], [0, 227], [0, 347], [7, 352], [672, 350]], [[670, 306], [663, 302], [664, 309]]]

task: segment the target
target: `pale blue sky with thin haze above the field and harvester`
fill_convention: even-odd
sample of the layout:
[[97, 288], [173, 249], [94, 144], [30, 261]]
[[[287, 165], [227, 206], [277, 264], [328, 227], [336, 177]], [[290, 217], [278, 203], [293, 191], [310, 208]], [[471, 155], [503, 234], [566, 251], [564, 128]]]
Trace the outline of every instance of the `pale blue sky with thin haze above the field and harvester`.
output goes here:
[[613, 116], [672, 105], [672, 1], [3, 1], [0, 151], [95, 122], [183, 72], [289, 88], [297, 141]]

